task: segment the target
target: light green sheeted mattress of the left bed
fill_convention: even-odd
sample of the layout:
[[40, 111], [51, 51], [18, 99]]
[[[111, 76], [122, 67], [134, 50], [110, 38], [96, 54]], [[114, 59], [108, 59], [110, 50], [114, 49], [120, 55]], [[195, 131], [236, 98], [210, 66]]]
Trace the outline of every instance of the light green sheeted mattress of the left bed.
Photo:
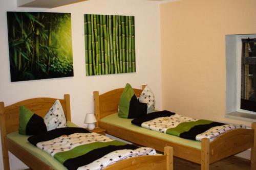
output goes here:
[[[77, 127], [75, 124], [68, 121], [68, 127]], [[29, 151], [32, 155], [39, 158], [42, 162], [50, 165], [54, 169], [58, 170], [67, 170], [65, 166], [55, 160], [52, 156], [50, 156], [46, 152], [42, 152], [39, 148], [32, 145], [27, 139], [29, 136], [20, 135], [18, 131], [9, 133], [7, 137], [13, 141], [15, 141], [18, 145], [20, 145], [25, 150]]]

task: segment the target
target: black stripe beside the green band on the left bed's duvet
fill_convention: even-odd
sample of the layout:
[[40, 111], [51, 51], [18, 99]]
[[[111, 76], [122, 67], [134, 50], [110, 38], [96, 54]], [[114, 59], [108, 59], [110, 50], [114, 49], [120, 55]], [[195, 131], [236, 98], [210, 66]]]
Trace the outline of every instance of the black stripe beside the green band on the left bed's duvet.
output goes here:
[[108, 147], [95, 149], [93, 151], [88, 152], [87, 154], [78, 156], [76, 158], [68, 159], [65, 162], [63, 162], [63, 165], [66, 166], [69, 170], [76, 170], [78, 167], [92, 163], [93, 161], [100, 159], [101, 157], [105, 156], [108, 153], [123, 149], [135, 150], [137, 149], [137, 147], [131, 144], [119, 146], [109, 145]]

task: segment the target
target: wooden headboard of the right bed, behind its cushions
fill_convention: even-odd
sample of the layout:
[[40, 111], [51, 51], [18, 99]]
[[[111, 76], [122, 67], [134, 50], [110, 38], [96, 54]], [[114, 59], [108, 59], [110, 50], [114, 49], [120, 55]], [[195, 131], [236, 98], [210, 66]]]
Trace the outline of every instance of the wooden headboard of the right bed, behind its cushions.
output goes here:
[[[142, 89], [144, 88], [145, 88], [145, 85], [142, 85], [141, 89], [134, 89], [134, 92], [137, 97], [140, 96]], [[100, 95], [99, 95], [99, 91], [93, 92], [94, 114], [96, 116], [97, 122], [105, 116], [108, 116], [113, 113], [117, 113], [119, 99], [123, 92], [123, 89], [124, 88], [118, 88]]]

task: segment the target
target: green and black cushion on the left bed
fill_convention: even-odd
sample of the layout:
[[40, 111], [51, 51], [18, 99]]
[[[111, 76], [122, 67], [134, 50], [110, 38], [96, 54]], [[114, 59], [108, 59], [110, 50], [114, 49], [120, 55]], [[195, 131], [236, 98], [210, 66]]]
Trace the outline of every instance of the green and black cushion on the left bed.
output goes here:
[[44, 119], [25, 106], [20, 106], [18, 133], [22, 135], [37, 135], [42, 132], [47, 132]]

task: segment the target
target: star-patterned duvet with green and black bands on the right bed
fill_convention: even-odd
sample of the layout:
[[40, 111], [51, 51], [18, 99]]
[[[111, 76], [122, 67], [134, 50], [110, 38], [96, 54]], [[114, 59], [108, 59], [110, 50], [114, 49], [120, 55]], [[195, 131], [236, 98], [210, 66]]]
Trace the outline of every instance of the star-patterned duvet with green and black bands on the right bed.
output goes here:
[[132, 123], [146, 129], [179, 136], [185, 139], [215, 139], [222, 133], [244, 125], [231, 125], [205, 119], [186, 117], [169, 111], [158, 111], [132, 120]]

